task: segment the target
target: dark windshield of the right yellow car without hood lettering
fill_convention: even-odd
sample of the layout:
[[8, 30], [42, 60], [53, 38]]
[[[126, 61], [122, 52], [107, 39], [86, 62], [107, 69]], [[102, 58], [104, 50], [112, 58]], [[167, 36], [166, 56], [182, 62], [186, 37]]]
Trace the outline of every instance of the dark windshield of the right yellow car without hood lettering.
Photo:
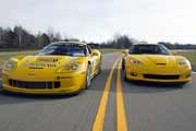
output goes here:
[[130, 48], [131, 55], [170, 55], [169, 50], [162, 45], [133, 45]]

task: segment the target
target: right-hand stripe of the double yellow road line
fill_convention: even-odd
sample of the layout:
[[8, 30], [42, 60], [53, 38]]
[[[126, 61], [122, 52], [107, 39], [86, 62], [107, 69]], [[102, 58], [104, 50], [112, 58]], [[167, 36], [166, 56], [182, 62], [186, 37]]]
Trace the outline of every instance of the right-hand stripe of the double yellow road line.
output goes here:
[[117, 131], [127, 131], [126, 116], [123, 102], [122, 93], [122, 81], [121, 81], [121, 64], [118, 67], [117, 74]]

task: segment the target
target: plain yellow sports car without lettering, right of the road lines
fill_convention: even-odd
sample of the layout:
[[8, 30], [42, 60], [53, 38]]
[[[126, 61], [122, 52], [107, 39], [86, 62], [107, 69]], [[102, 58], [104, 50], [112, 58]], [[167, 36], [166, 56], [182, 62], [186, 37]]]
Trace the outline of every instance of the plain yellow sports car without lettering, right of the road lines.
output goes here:
[[122, 60], [125, 80], [149, 82], [191, 81], [192, 67], [189, 61], [172, 55], [163, 45], [135, 44], [126, 51]]

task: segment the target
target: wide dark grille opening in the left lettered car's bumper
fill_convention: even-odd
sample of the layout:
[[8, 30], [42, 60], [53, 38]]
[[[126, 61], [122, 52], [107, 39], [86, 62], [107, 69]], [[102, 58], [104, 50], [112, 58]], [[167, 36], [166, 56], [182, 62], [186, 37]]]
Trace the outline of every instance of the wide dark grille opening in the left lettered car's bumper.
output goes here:
[[60, 87], [60, 82], [27, 82], [9, 80], [9, 84], [14, 87], [32, 88], [32, 90], [52, 90]]

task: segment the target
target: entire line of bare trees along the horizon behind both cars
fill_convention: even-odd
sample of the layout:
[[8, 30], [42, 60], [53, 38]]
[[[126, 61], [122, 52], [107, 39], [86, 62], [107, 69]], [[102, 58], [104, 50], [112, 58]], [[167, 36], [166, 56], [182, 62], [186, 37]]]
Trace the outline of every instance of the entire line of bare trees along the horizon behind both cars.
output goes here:
[[[69, 40], [79, 40], [77, 38], [62, 38], [59, 32], [54, 32], [52, 27], [49, 27], [46, 33], [39, 32], [38, 34], [33, 34], [22, 26], [11, 27], [0, 27], [0, 48], [26, 48], [26, 49], [37, 49], [42, 48], [46, 45], [53, 41], [69, 41]], [[134, 43], [138, 40], [127, 36], [115, 34], [112, 39], [105, 43], [89, 43], [94, 48], [128, 48]], [[196, 45], [193, 44], [171, 44], [168, 41], [159, 41], [170, 49], [196, 49]]]

